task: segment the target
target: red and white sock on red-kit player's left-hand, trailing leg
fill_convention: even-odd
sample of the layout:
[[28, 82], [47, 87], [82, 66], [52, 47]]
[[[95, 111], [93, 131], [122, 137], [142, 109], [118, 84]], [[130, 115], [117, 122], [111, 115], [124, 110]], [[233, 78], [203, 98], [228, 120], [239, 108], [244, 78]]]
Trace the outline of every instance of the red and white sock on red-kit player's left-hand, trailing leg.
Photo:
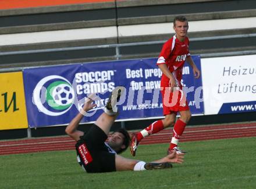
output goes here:
[[141, 141], [141, 139], [143, 139], [145, 136], [152, 135], [159, 132], [160, 130], [163, 130], [162, 120], [155, 121], [154, 123], [151, 123], [150, 126], [137, 133], [137, 140]]

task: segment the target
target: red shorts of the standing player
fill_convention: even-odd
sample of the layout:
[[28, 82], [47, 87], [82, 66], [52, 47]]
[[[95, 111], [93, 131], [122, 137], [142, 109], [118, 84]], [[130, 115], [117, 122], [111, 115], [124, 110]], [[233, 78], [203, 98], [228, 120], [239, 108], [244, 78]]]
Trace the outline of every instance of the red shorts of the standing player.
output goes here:
[[178, 111], [189, 110], [189, 104], [187, 104], [186, 95], [183, 90], [173, 90], [170, 92], [169, 87], [161, 89], [162, 103], [163, 103], [163, 115], [170, 113], [176, 113]]

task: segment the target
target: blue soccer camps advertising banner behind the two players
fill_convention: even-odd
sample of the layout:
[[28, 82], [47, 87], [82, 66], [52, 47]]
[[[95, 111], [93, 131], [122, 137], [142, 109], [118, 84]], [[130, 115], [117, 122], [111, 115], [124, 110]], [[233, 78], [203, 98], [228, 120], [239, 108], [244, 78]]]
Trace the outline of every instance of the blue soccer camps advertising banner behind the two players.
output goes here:
[[[193, 57], [200, 69], [200, 57]], [[28, 121], [31, 128], [65, 125], [79, 112], [84, 98], [96, 93], [97, 107], [81, 122], [95, 121], [102, 113], [116, 86], [126, 92], [119, 105], [118, 119], [130, 120], [162, 117], [160, 78], [157, 59], [108, 61], [33, 68], [23, 71]], [[183, 85], [192, 114], [202, 114], [202, 82], [194, 79], [189, 66], [183, 69]], [[197, 99], [197, 100], [195, 100]]]

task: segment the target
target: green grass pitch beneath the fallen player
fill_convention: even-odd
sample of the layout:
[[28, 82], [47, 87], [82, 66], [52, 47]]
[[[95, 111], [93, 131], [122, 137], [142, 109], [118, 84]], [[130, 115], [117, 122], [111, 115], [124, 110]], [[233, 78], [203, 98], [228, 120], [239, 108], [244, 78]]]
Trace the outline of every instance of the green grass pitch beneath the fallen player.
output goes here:
[[[182, 165], [143, 172], [88, 174], [74, 150], [2, 155], [0, 188], [256, 188], [255, 144], [256, 137], [180, 143], [189, 152]], [[161, 158], [168, 146], [141, 145], [136, 159]]]

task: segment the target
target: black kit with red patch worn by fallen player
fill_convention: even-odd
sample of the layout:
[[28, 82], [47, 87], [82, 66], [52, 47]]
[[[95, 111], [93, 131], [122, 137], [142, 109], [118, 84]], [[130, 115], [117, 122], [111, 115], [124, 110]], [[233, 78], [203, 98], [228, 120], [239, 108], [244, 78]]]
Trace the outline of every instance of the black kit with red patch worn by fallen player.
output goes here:
[[91, 126], [76, 143], [77, 160], [88, 173], [113, 172], [116, 170], [115, 154], [108, 151], [108, 138], [97, 125]]

